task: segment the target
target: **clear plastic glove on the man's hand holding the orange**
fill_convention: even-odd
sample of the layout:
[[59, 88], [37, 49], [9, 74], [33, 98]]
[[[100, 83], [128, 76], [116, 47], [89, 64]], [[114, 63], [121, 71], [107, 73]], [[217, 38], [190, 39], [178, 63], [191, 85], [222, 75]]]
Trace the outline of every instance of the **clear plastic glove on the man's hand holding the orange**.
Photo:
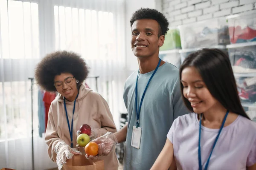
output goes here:
[[98, 155], [92, 156], [92, 155], [85, 155], [87, 159], [98, 159], [99, 156], [108, 156], [111, 151], [113, 150], [113, 147], [115, 144], [118, 143], [118, 140], [116, 139], [116, 136], [112, 132], [107, 132], [105, 135], [100, 136], [91, 142], [96, 142], [99, 146]]

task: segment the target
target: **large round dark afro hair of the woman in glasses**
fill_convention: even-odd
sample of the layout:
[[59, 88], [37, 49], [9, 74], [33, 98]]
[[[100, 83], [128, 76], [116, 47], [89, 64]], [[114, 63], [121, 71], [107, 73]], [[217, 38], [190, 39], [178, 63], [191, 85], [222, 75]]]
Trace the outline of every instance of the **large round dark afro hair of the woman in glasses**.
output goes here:
[[35, 80], [46, 91], [56, 91], [54, 78], [61, 73], [70, 73], [79, 80], [79, 85], [87, 78], [89, 68], [78, 54], [56, 51], [47, 54], [35, 68]]

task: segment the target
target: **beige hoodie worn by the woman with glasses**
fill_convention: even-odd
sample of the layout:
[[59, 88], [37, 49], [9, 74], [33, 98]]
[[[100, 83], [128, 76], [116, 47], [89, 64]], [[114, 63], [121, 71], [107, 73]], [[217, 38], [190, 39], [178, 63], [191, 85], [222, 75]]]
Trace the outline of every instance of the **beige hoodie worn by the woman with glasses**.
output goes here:
[[[72, 122], [72, 114], [74, 101], [69, 102], [66, 100], [66, 107], [68, 118]], [[76, 147], [76, 131], [83, 124], [88, 124], [92, 128], [99, 128], [99, 136], [104, 135], [107, 131], [116, 132], [116, 126], [113, 121], [112, 114], [109, 110], [108, 103], [103, 97], [93, 92], [92, 90], [85, 88], [81, 85], [79, 89], [79, 95], [76, 99], [76, 107], [73, 118], [73, 146]], [[58, 94], [52, 101], [49, 108], [48, 124], [45, 133], [45, 141], [48, 147], [48, 154], [52, 161], [56, 162], [56, 153], [54, 152], [55, 145], [63, 140], [66, 144], [70, 145], [70, 133], [67, 125], [67, 118], [64, 109], [64, 99], [61, 94]], [[83, 149], [78, 149], [85, 155]], [[118, 160], [116, 153], [113, 151], [108, 156], [99, 157], [104, 160], [105, 170], [117, 170]]]

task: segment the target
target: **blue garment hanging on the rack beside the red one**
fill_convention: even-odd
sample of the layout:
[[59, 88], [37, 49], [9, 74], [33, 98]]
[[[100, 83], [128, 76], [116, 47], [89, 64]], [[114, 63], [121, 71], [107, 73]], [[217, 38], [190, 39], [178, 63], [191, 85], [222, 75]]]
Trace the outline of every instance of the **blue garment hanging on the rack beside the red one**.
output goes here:
[[45, 108], [43, 98], [44, 91], [38, 90], [38, 130], [40, 137], [42, 137], [42, 134], [45, 132]]

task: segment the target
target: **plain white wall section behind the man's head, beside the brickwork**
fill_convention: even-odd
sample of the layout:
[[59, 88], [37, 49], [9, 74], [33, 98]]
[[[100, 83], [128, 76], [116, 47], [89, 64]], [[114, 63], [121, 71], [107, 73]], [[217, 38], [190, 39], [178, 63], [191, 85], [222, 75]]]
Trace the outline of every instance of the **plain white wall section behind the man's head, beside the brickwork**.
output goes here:
[[128, 74], [138, 69], [137, 58], [131, 51], [131, 15], [139, 8], [156, 8], [161, 10], [161, 0], [125, 0], [125, 57]]

